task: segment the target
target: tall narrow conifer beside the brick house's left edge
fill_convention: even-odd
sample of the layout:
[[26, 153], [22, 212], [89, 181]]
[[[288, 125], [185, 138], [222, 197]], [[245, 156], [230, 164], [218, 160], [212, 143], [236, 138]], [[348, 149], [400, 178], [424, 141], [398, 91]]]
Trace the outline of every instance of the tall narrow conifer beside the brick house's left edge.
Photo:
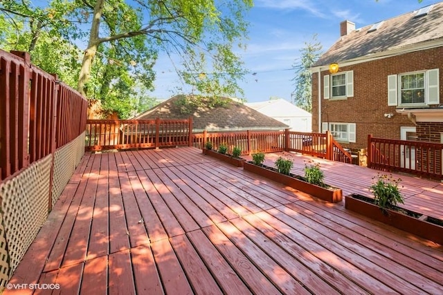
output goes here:
[[312, 77], [309, 68], [315, 64], [320, 58], [323, 46], [317, 41], [317, 35], [314, 35], [309, 42], [305, 42], [305, 47], [300, 49], [300, 61], [293, 64], [296, 70], [296, 77], [294, 77], [294, 85], [292, 103], [300, 108], [312, 111]]

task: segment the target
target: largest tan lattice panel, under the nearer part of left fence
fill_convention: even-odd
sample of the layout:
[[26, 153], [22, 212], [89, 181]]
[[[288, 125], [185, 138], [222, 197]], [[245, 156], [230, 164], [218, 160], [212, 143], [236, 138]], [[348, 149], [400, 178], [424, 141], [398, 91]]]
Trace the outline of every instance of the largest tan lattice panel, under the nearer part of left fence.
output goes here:
[[[52, 155], [31, 164], [0, 184], [1, 214], [6, 233], [10, 274], [48, 216]], [[0, 259], [1, 260], [1, 259]]]

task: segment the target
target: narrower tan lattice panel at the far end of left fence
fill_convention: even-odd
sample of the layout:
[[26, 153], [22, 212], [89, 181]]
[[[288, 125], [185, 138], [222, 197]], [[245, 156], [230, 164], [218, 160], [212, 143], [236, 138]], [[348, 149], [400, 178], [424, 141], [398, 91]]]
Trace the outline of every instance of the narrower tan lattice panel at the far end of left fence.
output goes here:
[[71, 179], [75, 167], [80, 163], [80, 160], [82, 160], [82, 156], [84, 155], [84, 135], [85, 133], [82, 133], [82, 135], [75, 138], [75, 140], [72, 140], [69, 144], [65, 144], [55, 151], [52, 189], [53, 207], [58, 198], [60, 198], [66, 184]]

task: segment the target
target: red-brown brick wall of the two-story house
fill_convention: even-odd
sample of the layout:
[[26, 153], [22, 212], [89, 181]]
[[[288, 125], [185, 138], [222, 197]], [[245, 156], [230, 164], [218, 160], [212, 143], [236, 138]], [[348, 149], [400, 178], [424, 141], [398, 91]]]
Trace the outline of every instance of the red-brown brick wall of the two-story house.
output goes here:
[[[356, 123], [356, 143], [343, 144], [350, 148], [366, 147], [370, 133], [374, 137], [399, 140], [400, 126], [415, 126], [415, 124], [408, 120], [406, 115], [396, 113], [395, 106], [388, 106], [388, 75], [433, 68], [440, 68], [440, 103], [443, 104], [443, 47], [340, 68], [343, 72], [354, 70], [354, 97], [348, 97], [346, 100], [323, 99], [323, 76], [329, 75], [329, 72], [323, 71], [320, 75], [321, 121]], [[318, 73], [314, 73], [312, 75], [313, 132], [319, 131], [317, 88]], [[394, 116], [387, 118], [384, 117], [385, 113], [393, 113]], [[435, 123], [432, 123], [429, 126], [433, 129], [434, 125]], [[438, 128], [440, 129], [435, 130], [441, 130], [441, 124]], [[422, 135], [422, 138], [425, 137]], [[440, 140], [440, 133], [438, 139]]]

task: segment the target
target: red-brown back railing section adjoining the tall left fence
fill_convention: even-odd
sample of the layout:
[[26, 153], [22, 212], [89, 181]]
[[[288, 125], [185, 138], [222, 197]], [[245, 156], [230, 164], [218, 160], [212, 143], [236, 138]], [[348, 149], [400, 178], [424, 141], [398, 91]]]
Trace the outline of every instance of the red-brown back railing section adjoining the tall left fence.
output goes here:
[[190, 145], [188, 120], [87, 120], [86, 151]]

